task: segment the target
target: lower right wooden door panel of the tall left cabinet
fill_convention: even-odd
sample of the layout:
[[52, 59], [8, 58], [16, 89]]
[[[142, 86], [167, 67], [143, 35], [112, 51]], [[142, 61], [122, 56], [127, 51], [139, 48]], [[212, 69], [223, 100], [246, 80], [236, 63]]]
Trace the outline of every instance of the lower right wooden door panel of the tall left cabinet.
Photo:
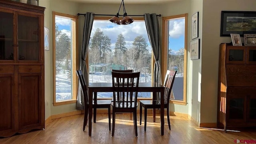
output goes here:
[[41, 124], [41, 74], [19, 74], [19, 129]]

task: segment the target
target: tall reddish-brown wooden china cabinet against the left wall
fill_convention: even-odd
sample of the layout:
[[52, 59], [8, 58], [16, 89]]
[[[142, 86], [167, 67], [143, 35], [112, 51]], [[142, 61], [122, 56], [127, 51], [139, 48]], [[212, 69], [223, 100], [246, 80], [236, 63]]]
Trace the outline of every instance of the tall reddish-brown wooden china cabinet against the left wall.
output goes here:
[[44, 129], [44, 10], [0, 0], [0, 137]]

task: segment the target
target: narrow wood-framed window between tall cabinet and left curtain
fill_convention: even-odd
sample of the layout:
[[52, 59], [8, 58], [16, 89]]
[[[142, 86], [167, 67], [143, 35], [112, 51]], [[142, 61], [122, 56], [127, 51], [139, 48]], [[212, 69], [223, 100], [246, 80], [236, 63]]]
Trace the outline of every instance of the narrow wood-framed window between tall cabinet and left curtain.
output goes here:
[[54, 106], [76, 102], [78, 17], [53, 12]]

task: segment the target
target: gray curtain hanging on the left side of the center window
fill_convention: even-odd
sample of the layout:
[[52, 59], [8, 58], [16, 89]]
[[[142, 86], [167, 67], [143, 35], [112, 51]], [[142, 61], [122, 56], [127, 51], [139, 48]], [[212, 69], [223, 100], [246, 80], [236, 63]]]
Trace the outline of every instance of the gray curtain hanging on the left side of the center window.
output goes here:
[[[89, 79], [88, 79], [88, 69], [87, 69], [85, 60], [86, 60], [86, 56], [87, 56], [88, 49], [89, 49], [88, 45], [89, 45], [90, 35], [92, 32], [93, 18], [94, 18], [94, 13], [86, 12], [85, 20], [84, 20], [83, 41], [82, 41], [82, 46], [81, 46], [81, 51], [80, 51], [80, 70], [83, 71], [84, 79], [85, 79], [87, 86], [89, 85]], [[81, 92], [80, 83], [78, 83], [76, 109], [77, 110], [84, 109], [84, 98], [83, 98], [83, 95]]]

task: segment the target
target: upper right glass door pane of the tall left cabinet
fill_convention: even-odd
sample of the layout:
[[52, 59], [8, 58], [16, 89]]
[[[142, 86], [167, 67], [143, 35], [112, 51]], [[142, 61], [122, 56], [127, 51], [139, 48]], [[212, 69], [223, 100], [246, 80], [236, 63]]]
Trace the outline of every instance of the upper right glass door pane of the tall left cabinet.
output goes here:
[[18, 14], [18, 60], [39, 60], [39, 18]]

